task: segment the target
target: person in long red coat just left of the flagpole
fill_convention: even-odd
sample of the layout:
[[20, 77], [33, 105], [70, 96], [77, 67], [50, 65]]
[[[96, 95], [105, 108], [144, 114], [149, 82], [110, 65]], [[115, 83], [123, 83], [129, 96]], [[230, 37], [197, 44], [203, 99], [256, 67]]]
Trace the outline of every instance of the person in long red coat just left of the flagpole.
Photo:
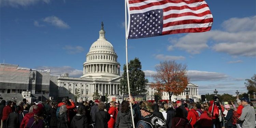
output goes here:
[[114, 128], [115, 120], [116, 120], [116, 114], [117, 114], [115, 102], [111, 101], [109, 105], [110, 105], [110, 108], [109, 108], [110, 120], [108, 122], [108, 128]]

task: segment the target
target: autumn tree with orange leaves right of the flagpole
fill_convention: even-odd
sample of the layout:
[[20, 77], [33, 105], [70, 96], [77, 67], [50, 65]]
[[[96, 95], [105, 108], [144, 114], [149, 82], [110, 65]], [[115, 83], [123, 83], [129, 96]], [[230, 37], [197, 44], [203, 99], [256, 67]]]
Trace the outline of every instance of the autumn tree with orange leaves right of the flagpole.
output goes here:
[[188, 84], [186, 73], [187, 65], [176, 63], [173, 61], [160, 62], [156, 66], [157, 73], [153, 75], [156, 87], [160, 91], [165, 91], [169, 94], [169, 100], [172, 95], [181, 94]]

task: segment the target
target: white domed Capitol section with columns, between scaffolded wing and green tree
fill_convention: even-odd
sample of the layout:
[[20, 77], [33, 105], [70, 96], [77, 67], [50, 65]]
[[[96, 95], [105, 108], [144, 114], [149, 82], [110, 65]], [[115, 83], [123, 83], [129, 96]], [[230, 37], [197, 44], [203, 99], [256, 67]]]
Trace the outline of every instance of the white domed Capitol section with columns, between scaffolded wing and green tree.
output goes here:
[[86, 55], [83, 63], [83, 75], [80, 78], [69, 77], [62, 73], [57, 77], [58, 97], [92, 100], [95, 91], [100, 95], [109, 95], [109, 100], [120, 94], [120, 63], [113, 45], [106, 40], [103, 25], [99, 31], [99, 39], [95, 41]]

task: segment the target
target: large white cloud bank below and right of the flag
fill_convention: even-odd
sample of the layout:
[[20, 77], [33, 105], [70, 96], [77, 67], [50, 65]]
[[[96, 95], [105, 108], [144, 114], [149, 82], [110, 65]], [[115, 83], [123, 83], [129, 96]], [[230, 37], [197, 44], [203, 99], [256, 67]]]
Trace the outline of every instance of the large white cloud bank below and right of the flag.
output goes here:
[[[188, 33], [181, 38], [170, 38], [173, 48], [183, 49], [191, 54], [199, 54], [203, 49], [211, 48], [232, 56], [256, 55], [256, 16], [231, 18], [223, 22], [223, 30], [211, 30], [202, 33]], [[209, 41], [211, 41], [209, 43]], [[210, 44], [213, 46], [210, 46]]]

